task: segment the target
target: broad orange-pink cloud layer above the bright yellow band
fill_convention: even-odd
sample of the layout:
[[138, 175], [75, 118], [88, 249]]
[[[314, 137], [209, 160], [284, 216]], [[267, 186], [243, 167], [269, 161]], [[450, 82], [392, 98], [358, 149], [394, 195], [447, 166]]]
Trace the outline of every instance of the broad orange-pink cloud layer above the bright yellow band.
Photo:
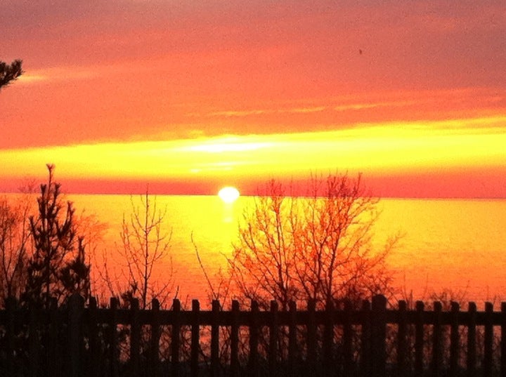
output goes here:
[[2, 3], [2, 59], [26, 73], [0, 98], [1, 147], [506, 109], [501, 1], [78, 3]]

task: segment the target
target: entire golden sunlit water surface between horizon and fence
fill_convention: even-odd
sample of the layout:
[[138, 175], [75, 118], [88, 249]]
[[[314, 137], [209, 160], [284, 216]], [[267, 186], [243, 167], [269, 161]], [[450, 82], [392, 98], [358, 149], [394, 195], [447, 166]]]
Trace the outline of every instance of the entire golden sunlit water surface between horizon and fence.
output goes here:
[[[77, 213], [96, 214], [108, 229], [96, 243], [96, 263], [108, 255], [108, 267], [124, 261], [117, 252], [123, 216], [129, 218], [129, 195], [77, 195], [67, 197]], [[207, 300], [209, 286], [198, 263], [195, 246], [207, 274], [226, 268], [226, 256], [237, 238], [238, 220], [253, 198], [240, 197], [225, 204], [214, 196], [153, 196], [157, 208], [167, 212], [164, 229], [172, 230], [173, 280], [182, 300]], [[451, 290], [466, 300], [506, 299], [506, 200], [382, 199], [375, 227], [375, 242], [389, 234], [403, 237], [391, 251], [388, 263], [395, 272], [395, 286], [415, 299], [432, 292]], [[192, 243], [191, 239], [193, 237]], [[155, 274], [167, 276], [169, 261]], [[118, 277], [121, 279], [121, 277]]]

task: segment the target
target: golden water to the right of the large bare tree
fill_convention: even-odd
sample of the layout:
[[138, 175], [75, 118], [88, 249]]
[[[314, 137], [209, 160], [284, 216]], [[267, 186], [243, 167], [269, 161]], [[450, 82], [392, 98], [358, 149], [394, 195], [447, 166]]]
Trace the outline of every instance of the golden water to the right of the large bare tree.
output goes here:
[[468, 300], [506, 299], [506, 200], [384, 199], [378, 233], [405, 236], [391, 253], [415, 298], [450, 289]]

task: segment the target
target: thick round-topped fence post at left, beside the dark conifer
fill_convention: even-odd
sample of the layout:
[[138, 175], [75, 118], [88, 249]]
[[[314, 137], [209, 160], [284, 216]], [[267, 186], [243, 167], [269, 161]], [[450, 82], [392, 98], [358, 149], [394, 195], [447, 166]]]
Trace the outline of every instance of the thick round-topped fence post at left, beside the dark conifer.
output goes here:
[[82, 313], [84, 298], [74, 293], [69, 300], [69, 340], [70, 340], [70, 376], [82, 376]]

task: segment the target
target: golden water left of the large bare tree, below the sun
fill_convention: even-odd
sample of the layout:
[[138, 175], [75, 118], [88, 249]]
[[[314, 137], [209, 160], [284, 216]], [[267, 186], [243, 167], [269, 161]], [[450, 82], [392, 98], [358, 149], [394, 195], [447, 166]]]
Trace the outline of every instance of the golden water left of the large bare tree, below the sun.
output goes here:
[[[87, 213], [94, 213], [107, 223], [104, 242], [98, 246], [97, 253], [108, 256], [108, 267], [126, 267], [118, 252], [122, 248], [119, 237], [122, 219], [131, 219], [132, 204], [140, 206], [142, 213], [143, 198], [138, 195], [69, 195], [68, 199], [74, 202], [78, 213], [79, 209], [86, 209]], [[226, 257], [231, 256], [231, 244], [238, 234], [237, 220], [248, 199], [242, 197], [233, 204], [225, 204], [217, 196], [152, 196], [150, 201], [152, 206], [156, 202], [156, 211], [163, 215], [162, 232], [171, 233], [171, 264], [167, 259], [160, 261], [157, 263], [160, 268], [155, 269], [154, 275], [162, 279], [172, 275], [172, 291], [177, 290], [183, 302], [193, 298], [207, 300], [212, 289], [202, 267], [209, 277], [214, 277], [220, 267], [226, 268]]]

